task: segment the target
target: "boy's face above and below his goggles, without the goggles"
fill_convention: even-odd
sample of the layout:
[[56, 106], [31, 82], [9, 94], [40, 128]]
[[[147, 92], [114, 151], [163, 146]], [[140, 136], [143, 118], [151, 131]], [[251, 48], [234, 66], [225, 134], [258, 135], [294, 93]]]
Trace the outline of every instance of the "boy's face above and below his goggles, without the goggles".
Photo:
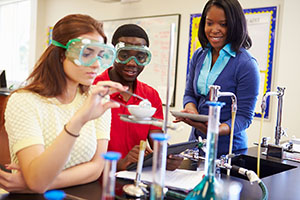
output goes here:
[[[135, 46], [146, 46], [146, 40], [138, 37], [120, 37], [119, 42]], [[138, 65], [134, 59], [131, 59], [128, 63], [122, 64], [115, 62], [113, 73], [116, 73], [117, 77], [122, 84], [132, 84], [138, 75], [143, 71], [144, 66]]]

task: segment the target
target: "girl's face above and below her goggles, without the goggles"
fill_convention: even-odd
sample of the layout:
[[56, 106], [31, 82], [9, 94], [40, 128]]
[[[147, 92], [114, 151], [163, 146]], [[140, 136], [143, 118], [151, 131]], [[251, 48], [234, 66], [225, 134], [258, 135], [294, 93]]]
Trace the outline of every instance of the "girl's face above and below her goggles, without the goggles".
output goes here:
[[[96, 40], [100, 43], [104, 42], [103, 37], [101, 37], [97, 32], [84, 34], [81, 35], [80, 37]], [[68, 58], [64, 59], [63, 66], [64, 66], [64, 72], [67, 76], [68, 85], [71, 84], [74, 85], [75, 87], [77, 87], [79, 84], [86, 85], [86, 86], [92, 85], [97, 75], [97, 72], [100, 68], [98, 60], [96, 60], [89, 67], [87, 67], [82, 65], [76, 65], [73, 61], [69, 60]]]

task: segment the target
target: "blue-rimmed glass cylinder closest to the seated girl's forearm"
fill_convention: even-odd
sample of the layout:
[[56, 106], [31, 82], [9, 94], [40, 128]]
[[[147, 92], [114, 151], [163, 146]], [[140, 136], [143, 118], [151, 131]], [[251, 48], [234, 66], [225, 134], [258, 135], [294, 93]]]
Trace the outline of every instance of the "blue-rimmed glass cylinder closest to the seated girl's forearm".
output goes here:
[[110, 151], [102, 154], [102, 157], [105, 159], [105, 164], [101, 200], [113, 200], [115, 199], [115, 173], [117, 170], [117, 161], [120, 159], [121, 154]]

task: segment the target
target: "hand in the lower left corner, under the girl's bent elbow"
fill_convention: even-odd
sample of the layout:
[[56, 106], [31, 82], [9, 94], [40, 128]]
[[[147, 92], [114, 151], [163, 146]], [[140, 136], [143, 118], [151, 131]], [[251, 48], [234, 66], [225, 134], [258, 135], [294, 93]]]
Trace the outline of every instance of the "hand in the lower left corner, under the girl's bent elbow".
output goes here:
[[0, 188], [6, 190], [7, 192], [26, 192], [28, 193], [28, 187], [25, 183], [24, 177], [20, 168], [16, 164], [6, 165], [8, 170], [17, 170], [16, 173], [9, 173], [0, 170]]

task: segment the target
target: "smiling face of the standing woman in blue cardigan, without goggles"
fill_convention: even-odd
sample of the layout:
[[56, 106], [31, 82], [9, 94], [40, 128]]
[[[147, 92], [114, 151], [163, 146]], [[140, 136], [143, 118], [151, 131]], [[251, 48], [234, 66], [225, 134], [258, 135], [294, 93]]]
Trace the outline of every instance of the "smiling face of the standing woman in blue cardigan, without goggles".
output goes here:
[[205, 36], [211, 46], [219, 52], [226, 44], [227, 21], [222, 8], [212, 6], [206, 15]]

